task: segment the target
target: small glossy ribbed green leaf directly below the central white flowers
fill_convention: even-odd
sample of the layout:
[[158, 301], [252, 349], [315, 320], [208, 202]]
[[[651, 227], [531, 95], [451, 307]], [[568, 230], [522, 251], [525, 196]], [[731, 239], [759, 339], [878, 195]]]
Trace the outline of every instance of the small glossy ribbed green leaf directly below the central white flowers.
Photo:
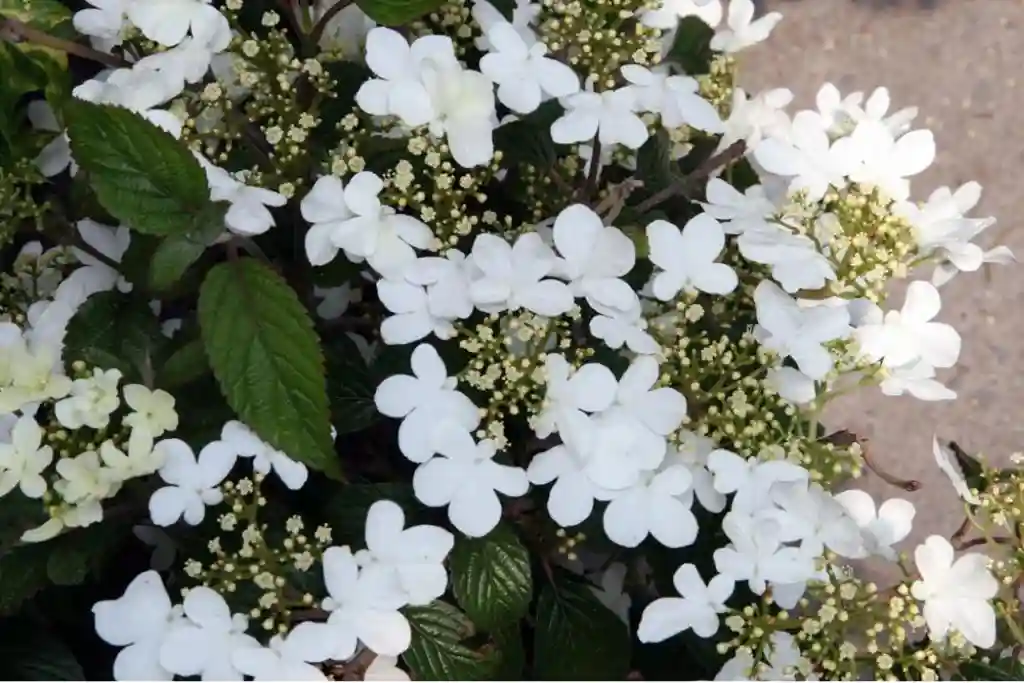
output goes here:
[[510, 624], [529, 610], [529, 551], [508, 524], [482, 539], [459, 538], [449, 561], [452, 593], [481, 629]]

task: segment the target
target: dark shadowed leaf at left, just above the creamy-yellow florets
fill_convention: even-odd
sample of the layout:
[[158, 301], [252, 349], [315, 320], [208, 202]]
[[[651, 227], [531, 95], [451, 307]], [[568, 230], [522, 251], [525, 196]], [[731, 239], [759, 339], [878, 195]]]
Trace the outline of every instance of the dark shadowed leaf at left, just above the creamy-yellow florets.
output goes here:
[[147, 303], [117, 291], [89, 297], [68, 325], [65, 362], [76, 360], [103, 370], [118, 369], [129, 379], [152, 371], [157, 349], [165, 341]]

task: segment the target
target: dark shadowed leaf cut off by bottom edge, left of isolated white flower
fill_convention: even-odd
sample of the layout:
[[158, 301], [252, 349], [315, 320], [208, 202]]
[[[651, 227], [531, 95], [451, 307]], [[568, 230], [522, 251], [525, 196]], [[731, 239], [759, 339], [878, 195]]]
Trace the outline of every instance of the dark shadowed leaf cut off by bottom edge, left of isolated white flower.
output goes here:
[[534, 675], [544, 681], [623, 680], [630, 634], [585, 582], [563, 572], [537, 604]]

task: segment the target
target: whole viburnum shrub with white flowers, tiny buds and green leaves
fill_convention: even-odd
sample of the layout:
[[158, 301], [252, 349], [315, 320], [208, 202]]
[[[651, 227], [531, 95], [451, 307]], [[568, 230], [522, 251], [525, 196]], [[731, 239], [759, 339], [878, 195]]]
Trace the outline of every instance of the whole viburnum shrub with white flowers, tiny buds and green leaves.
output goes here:
[[819, 420], [1013, 260], [915, 110], [751, 0], [88, 2], [0, 0], [5, 676], [1020, 679], [1024, 474], [900, 547]]

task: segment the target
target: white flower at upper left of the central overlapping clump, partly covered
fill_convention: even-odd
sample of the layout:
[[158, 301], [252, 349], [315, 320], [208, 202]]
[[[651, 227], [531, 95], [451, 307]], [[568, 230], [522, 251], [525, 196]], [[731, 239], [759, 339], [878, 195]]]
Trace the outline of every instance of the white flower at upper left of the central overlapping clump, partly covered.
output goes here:
[[601, 364], [587, 362], [573, 370], [564, 356], [549, 353], [544, 359], [544, 372], [543, 408], [530, 423], [541, 438], [562, 431], [577, 415], [607, 410], [615, 399], [615, 376]]

